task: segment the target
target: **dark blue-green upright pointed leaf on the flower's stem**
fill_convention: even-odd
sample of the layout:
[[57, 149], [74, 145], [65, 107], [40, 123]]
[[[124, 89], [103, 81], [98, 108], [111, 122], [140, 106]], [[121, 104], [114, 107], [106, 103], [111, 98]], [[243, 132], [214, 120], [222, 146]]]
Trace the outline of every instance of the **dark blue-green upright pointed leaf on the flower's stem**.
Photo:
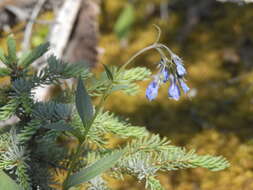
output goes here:
[[81, 77], [78, 79], [76, 90], [76, 109], [83, 122], [87, 126], [93, 118], [93, 106], [91, 98], [86, 91]]

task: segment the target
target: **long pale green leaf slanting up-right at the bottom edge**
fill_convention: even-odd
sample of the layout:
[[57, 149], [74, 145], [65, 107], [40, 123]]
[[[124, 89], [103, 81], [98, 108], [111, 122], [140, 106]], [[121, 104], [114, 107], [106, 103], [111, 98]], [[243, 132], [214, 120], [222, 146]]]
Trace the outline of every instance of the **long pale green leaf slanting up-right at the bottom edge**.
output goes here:
[[68, 189], [75, 185], [79, 185], [85, 183], [94, 177], [100, 175], [105, 172], [109, 168], [113, 167], [114, 164], [119, 160], [122, 156], [122, 151], [117, 151], [109, 156], [105, 156], [104, 158], [96, 161], [94, 164], [81, 169], [79, 172], [74, 173], [69, 177], [69, 179], [65, 182], [65, 188]]

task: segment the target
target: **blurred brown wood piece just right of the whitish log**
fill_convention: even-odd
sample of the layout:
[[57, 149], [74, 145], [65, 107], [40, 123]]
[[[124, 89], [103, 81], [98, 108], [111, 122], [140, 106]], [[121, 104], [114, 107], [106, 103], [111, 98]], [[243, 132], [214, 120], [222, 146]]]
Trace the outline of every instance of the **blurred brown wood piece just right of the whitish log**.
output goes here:
[[94, 67], [97, 62], [99, 3], [83, 0], [74, 26], [65, 59], [70, 62], [85, 60]]

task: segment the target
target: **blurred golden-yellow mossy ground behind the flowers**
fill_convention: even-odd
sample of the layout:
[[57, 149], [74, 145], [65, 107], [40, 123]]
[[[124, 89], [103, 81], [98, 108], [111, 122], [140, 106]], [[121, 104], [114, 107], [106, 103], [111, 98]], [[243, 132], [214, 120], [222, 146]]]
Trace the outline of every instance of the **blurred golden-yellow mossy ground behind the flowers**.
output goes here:
[[[253, 40], [252, 5], [216, 3], [209, 14], [187, 34], [178, 40], [187, 20], [187, 3], [178, 3], [165, 20], [159, 13], [147, 13], [148, 6], [159, 8], [161, 1], [136, 1], [135, 24], [126, 43], [113, 33], [113, 24], [127, 1], [104, 1], [101, 15], [101, 43], [105, 52], [101, 62], [123, 64], [136, 51], [156, 39], [153, 24], [162, 29], [161, 42], [180, 55], [188, 70], [187, 80], [196, 96], [183, 97], [174, 102], [167, 98], [164, 85], [159, 97], [148, 102], [145, 88], [150, 81], [141, 84], [137, 96], [115, 93], [107, 107], [130, 118], [138, 125], [162, 136], [168, 136], [173, 144], [194, 148], [199, 153], [223, 155], [231, 167], [221, 172], [204, 169], [173, 171], [161, 174], [166, 189], [173, 190], [251, 190], [253, 189], [253, 117], [252, 117], [252, 65]], [[195, 3], [199, 3], [196, 1]], [[109, 21], [109, 22], [108, 22]], [[244, 42], [249, 45], [244, 47]], [[247, 44], [247, 43], [246, 43]], [[153, 63], [159, 61], [155, 52], [136, 59], [133, 66], [147, 66], [155, 72]], [[117, 189], [143, 189], [133, 180], [116, 185]]]

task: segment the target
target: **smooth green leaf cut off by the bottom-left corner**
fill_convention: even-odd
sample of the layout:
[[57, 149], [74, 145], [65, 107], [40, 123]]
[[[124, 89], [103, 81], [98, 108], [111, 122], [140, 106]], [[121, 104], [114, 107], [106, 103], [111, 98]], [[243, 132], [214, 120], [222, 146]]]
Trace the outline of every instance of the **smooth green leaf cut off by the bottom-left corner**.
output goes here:
[[8, 175], [5, 174], [4, 171], [0, 170], [0, 189], [8, 189], [8, 190], [22, 190], [18, 184], [15, 183]]

